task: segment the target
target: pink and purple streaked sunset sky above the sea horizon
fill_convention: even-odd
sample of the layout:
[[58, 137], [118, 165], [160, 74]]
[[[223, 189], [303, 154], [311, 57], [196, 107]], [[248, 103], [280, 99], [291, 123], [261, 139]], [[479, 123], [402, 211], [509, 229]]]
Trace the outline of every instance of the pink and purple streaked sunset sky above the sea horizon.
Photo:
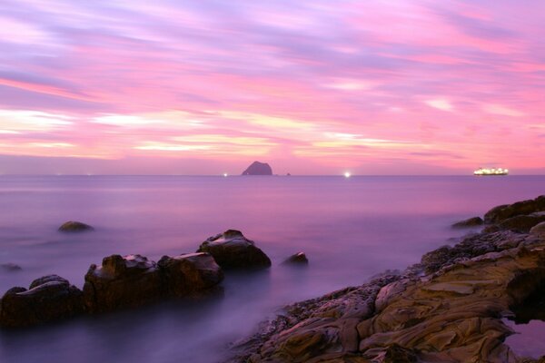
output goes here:
[[545, 174], [541, 0], [2, 0], [0, 173]]

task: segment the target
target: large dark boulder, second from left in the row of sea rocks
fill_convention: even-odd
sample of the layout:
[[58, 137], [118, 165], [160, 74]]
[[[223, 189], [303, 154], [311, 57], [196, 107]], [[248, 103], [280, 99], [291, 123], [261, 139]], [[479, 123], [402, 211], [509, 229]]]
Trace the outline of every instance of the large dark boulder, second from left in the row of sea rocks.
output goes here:
[[84, 304], [92, 313], [134, 308], [163, 298], [161, 273], [141, 255], [112, 255], [85, 274]]

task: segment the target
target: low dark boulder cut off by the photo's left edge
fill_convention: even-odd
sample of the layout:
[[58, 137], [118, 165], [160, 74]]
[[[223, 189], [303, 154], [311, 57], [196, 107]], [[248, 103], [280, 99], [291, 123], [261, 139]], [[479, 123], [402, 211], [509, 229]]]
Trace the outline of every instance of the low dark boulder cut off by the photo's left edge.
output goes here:
[[83, 294], [57, 275], [34, 280], [29, 289], [5, 292], [0, 306], [0, 326], [22, 328], [66, 319], [84, 311]]

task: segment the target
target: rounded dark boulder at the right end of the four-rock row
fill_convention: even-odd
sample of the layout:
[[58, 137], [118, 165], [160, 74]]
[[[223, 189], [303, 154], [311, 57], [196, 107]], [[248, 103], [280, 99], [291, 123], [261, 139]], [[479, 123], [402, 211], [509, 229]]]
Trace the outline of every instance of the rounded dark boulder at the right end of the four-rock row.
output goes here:
[[243, 232], [228, 230], [203, 241], [197, 252], [207, 252], [223, 269], [265, 269], [271, 260]]

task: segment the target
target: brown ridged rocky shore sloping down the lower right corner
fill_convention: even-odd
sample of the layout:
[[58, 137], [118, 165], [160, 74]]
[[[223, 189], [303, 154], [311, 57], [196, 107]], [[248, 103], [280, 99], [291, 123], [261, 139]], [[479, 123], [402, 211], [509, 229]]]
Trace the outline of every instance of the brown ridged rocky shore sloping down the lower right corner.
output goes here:
[[531, 306], [545, 297], [544, 215], [540, 196], [456, 223], [484, 229], [404, 271], [285, 307], [229, 362], [545, 362], [517, 356], [503, 321], [543, 315]]

